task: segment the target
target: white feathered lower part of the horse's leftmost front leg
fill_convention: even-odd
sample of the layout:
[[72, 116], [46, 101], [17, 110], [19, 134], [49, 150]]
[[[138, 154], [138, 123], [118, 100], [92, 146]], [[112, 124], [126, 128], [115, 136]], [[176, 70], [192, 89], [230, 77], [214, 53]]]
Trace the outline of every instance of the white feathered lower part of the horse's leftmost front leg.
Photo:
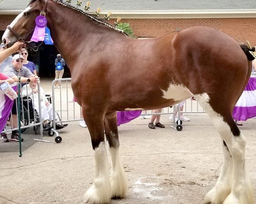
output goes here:
[[105, 143], [101, 142], [94, 151], [95, 176], [93, 185], [84, 194], [84, 203], [109, 203], [111, 182], [108, 170], [108, 158]]

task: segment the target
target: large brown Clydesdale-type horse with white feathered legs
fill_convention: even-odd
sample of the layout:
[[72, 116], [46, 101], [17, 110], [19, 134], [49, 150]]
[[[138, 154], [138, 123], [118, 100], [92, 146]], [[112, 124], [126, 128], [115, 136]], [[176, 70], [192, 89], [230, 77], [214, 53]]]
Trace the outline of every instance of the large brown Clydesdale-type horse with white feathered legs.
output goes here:
[[[96, 170], [85, 203], [105, 204], [128, 193], [116, 111], [163, 108], [195, 96], [224, 141], [220, 176], [203, 203], [253, 204], [245, 137], [232, 118], [251, 73], [249, 48], [206, 27], [134, 40], [57, 0], [32, 0], [6, 30], [3, 42], [29, 40], [41, 11], [70, 68], [72, 89], [90, 131]], [[104, 130], [111, 153], [110, 176]]]

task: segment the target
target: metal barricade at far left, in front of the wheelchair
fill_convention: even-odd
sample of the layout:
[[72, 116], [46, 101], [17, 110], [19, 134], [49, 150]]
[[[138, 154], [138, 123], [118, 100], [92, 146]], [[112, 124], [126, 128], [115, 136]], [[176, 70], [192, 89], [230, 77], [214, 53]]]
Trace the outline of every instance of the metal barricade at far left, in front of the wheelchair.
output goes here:
[[[16, 106], [17, 114], [12, 114], [12, 111], [10, 113], [9, 119], [10, 119], [10, 125], [5, 125], [3, 131], [1, 133], [11, 133], [14, 130], [18, 130], [18, 125], [16, 122], [18, 119], [18, 114], [20, 114], [20, 129], [21, 133], [23, 133], [28, 128], [33, 128], [35, 131], [35, 134], [37, 133], [38, 126], [40, 131], [40, 139], [34, 139], [37, 141], [42, 142], [49, 142], [42, 140], [43, 138], [43, 122], [41, 121], [41, 100], [38, 100], [38, 112], [33, 108], [33, 104], [35, 104], [34, 96], [37, 95], [37, 97], [40, 99], [41, 97], [41, 91], [40, 91], [40, 83], [38, 82], [38, 92], [34, 94], [32, 91], [32, 97], [28, 96], [28, 89], [24, 90], [23, 88], [23, 94], [20, 90], [20, 113], [18, 113], [18, 104], [17, 99], [15, 99], [13, 106]], [[25, 96], [26, 95], [26, 96]], [[23, 97], [24, 96], [24, 97]], [[14, 127], [16, 126], [17, 127]]]

